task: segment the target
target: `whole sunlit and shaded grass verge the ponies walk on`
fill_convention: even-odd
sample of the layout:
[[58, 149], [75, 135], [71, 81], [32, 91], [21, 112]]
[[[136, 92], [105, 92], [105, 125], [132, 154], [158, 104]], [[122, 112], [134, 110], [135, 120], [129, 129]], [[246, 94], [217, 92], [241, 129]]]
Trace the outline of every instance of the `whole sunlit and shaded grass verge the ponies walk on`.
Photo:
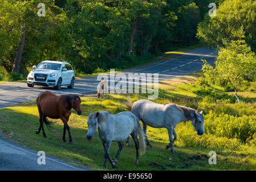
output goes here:
[[[136, 158], [136, 151], [133, 140], [130, 139], [131, 146], [125, 146], [123, 148], [117, 168], [114, 170], [256, 169], [256, 142], [255, 144], [242, 142], [229, 155], [231, 150], [241, 141], [235, 135], [222, 137], [214, 134], [214, 131], [209, 131], [211, 129], [211, 123], [215, 121], [209, 121], [209, 118], [213, 117], [213, 115], [210, 115], [210, 110], [213, 110], [216, 114], [224, 112], [224, 114], [232, 115], [230, 110], [226, 109], [227, 107], [233, 109], [232, 111], [234, 113], [241, 114], [244, 111], [248, 113], [248, 117], [250, 115], [253, 117], [254, 103], [243, 102], [243, 106], [240, 106], [235, 102], [209, 101], [207, 97], [205, 98], [193, 93], [191, 90], [186, 90], [185, 86], [184, 89], [178, 86], [180, 84], [184, 85], [194, 82], [199, 76], [201, 76], [201, 72], [160, 82], [159, 99], [155, 100], [155, 102], [165, 103], [171, 101], [195, 109], [203, 109], [206, 113], [205, 134], [202, 136], [196, 135], [191, 122], [178, 124], [176, 127], [178, 138], [174, 143], [174, 149], [177, 151], [177, 154], [172, 154], [169, 150], [165, 150], [165, 146], [168, 143], [166, 129], [148, 127], [147, 135], [153, 148], [147, 147], [146, 154], [140, 157], [139, 166], [133, 165]], [[225, 94], [221, 90], [218, 92]], [[88, 111], [108, 110], [112, 111], [112, 113], [118, 113], [124, 110], [123, 102], [128, 97], [131, 97], [135, 101], [141, 98], [147, 98], [147, 94], [109, 94], [105, 99], [97, 99], [95, 96], [81, 97], [83, 113], [82, 115], [77, 115], [73, 110], [69, 121], [74, 144], [62, 142], [63, 123], [60, 119], [50, 119], [54, 122], [52, 125], [53, 129], [51, 132], [46, 129], [46, 139], [43, 138], [42, 133], [39, 135], [35, 134], [35, 131], [39, 127], [38, 110], [35, 101], [0, 109], [0, 133], [4, 138], [34, 150], [45, 151], [47, 154], [58, 156], [72, 164], [96, 170], [101, 169], [104, 162], [104, 150], [100, 139], [97, 137], [97, 133], [95, 133], [91, 141], [86, 139]], [[241, 100], [243, 100], [243, 97]], [[222, 105], [224, 107], [221, 107]], [[247, 110], [251, 111], [247, 112]], [[112, 142], [110, 149], [112, 158], [115, 156], [117, 150], [117, 143]], [[216, 151], [218, 154], [217, 165], [210, 165], [208, 163], [208, 152], [211, 150]], [[171, 160], [169, 160], [170, 158]], [[107, 169], [112, 170], [109, 163], [107, 163]]]

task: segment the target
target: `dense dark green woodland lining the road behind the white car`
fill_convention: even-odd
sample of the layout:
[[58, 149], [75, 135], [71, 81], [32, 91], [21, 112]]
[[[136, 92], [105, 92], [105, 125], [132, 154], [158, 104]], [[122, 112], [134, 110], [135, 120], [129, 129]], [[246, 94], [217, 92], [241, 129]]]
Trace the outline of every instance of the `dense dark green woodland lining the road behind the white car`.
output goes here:
[[[216, 1], [218, 2], [218, 1]], [[0, 66], [26, 75], [42, 60], [66, 60], [76, 71], [128, 68], [156, 53], [191, 45], [210, 1], [0, 1]]]

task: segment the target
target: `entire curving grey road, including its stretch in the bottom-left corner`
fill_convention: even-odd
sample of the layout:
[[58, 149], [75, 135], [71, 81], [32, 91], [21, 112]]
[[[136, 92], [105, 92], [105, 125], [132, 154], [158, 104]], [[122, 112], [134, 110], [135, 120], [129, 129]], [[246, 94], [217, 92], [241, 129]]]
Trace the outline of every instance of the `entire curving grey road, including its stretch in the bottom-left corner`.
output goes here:
[[[139, 69], [124, 72], [128, 73], [159, 73], [159, 81], [188, 75], [202, 68], [201, 59], [213, 64], [216, 59], [216, 50], [208, 47], [193, 49], [175, 59], [162, 61]], [[26, 101], [35, 100], [40, 92], [51, 90], [56, 94], [84, 94], [96, 93], [99, 83], [97, 77], [82, 78], [75, 81], [75, 88], [62, 88], [60, 91], [51, 87], [35, 86], [28, 88], [26, 82], [0, 85], [0, 108], [13, 106]], [[116, 84], [116, 82], [115, 82]], [[80, 168], [63, 160], [46, 154], [46, 165], [39, 165], [38, 152], [27, 147], [19, 146], [0, 137], [0, 170], [88, 170]]]

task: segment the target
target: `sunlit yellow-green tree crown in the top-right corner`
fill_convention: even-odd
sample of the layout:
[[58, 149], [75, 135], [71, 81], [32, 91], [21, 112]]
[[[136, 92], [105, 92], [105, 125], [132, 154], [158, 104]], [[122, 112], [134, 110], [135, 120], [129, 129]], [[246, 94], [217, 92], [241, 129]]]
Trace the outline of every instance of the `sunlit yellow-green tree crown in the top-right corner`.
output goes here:
[[226, 0], [217, 9], [217, 16], [205, 15], [198, 24], [197, 37], [211, 47], [224, 47], [239, 40], [236, 32], [243, 26], [245, 41], [256, 51], [256, 1]]

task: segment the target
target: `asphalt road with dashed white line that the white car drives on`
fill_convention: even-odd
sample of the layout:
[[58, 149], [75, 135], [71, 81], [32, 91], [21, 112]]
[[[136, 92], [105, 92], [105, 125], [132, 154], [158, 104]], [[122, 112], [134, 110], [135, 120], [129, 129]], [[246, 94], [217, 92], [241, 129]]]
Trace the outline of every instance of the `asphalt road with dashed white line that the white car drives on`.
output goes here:
[[[124, 73], [125, 75], [128, 75], [128, 73], [159, 73], [159, 81], [169, 80], [200, 70], [202, 68], [201, 59], [207, 60], [210, 64], [214, 63], [216, 59], [216, 53], [217, 52], [215, 49], [211, 50], [208, 47], [197, 48], [186, 52], [184, 55], [178, 56], [175, 59], [162, 61], [161, 63], [133, 69], [132, 71], [126, 71]], [[117, 81], [115, 81], [115, 84], [116, 82]], [[50, 90], [56, 94], [95, 93], [96, 95], [97, 84], [99, 84], [97, 77], [77, 79], [75, 80], [74, 89], [68, 89], [65, 86], [61, 90], [54, 90], [53, 87], [45, 86], [35, 86], [34, 88], [28, 88], [26, 82], [1, 84], [0, 108], [35, 100], [38, 94], [45, 90]], [[110, 89], [113, 89], [113, 87]]]

